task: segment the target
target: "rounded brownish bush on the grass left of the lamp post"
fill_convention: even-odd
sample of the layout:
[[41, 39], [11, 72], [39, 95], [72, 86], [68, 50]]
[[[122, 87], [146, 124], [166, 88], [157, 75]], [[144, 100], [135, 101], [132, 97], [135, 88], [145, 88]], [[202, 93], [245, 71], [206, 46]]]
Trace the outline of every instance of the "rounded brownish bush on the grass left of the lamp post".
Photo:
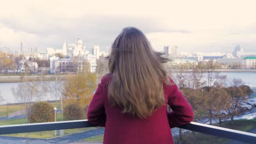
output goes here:
[[46, 101], [34, 103], [28, 111], [30, 123], [43, 123], [54, 121], [54, 107]]

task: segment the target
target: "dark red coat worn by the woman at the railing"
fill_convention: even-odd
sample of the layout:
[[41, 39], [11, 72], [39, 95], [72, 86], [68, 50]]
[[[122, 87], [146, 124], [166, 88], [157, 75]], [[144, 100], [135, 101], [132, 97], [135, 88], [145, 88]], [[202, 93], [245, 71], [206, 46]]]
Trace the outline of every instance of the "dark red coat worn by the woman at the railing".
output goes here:
[[[166, 104], [147, 119], [121, 113], [118, 106], [110, 107], [108, 83], [111, 76], [104, 76], [88, 108], [88, 121], [105, 127], [103, 143], [173, 143], [170, 128], [193, 121], [193, 110], [176, 85], [164, 86]], [[171, 80], [172, 81], [172, 80]], [[173, 82], [173, 81], [172, 81]], [[166, 112], [167, 104], [172, 112]]]

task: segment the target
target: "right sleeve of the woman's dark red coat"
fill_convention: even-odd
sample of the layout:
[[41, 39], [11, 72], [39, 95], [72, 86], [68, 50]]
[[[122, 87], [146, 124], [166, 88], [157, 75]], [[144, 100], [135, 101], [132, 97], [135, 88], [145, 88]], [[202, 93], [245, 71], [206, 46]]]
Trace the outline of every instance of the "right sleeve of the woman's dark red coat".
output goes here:
[[[174, 83], [171, 80], [172, 83]], [[170, 128], [178, 127], [190, 123], [194, 119], [193, 109], [183, 94], [179, 91], [177, 85], [166, 86], [168, 91], [168, 105], [172, 111], [167, 112]]]

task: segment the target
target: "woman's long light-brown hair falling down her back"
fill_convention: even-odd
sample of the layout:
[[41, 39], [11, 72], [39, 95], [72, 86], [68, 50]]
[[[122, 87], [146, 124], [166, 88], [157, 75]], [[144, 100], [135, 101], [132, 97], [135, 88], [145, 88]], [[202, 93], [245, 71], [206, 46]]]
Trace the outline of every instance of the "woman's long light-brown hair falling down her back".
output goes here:
[[112, 44], [107, 59], [113, 77], [108, 86], [109, 103], [123, 113], [146, 118], [165, 104], [163, 83], [170, 84], [163, 65], [170, 59], [155, 52], [146, 36], [134, 27], [126, 27]]

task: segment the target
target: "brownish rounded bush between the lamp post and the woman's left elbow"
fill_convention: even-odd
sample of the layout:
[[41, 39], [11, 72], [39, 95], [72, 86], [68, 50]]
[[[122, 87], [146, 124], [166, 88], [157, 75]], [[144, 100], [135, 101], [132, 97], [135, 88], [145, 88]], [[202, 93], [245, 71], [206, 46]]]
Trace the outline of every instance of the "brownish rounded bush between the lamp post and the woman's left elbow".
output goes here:
[[84, 119], [83, 109], [78, 104], [69, 104], [64, 107], [63, 117], [67, 121]]

